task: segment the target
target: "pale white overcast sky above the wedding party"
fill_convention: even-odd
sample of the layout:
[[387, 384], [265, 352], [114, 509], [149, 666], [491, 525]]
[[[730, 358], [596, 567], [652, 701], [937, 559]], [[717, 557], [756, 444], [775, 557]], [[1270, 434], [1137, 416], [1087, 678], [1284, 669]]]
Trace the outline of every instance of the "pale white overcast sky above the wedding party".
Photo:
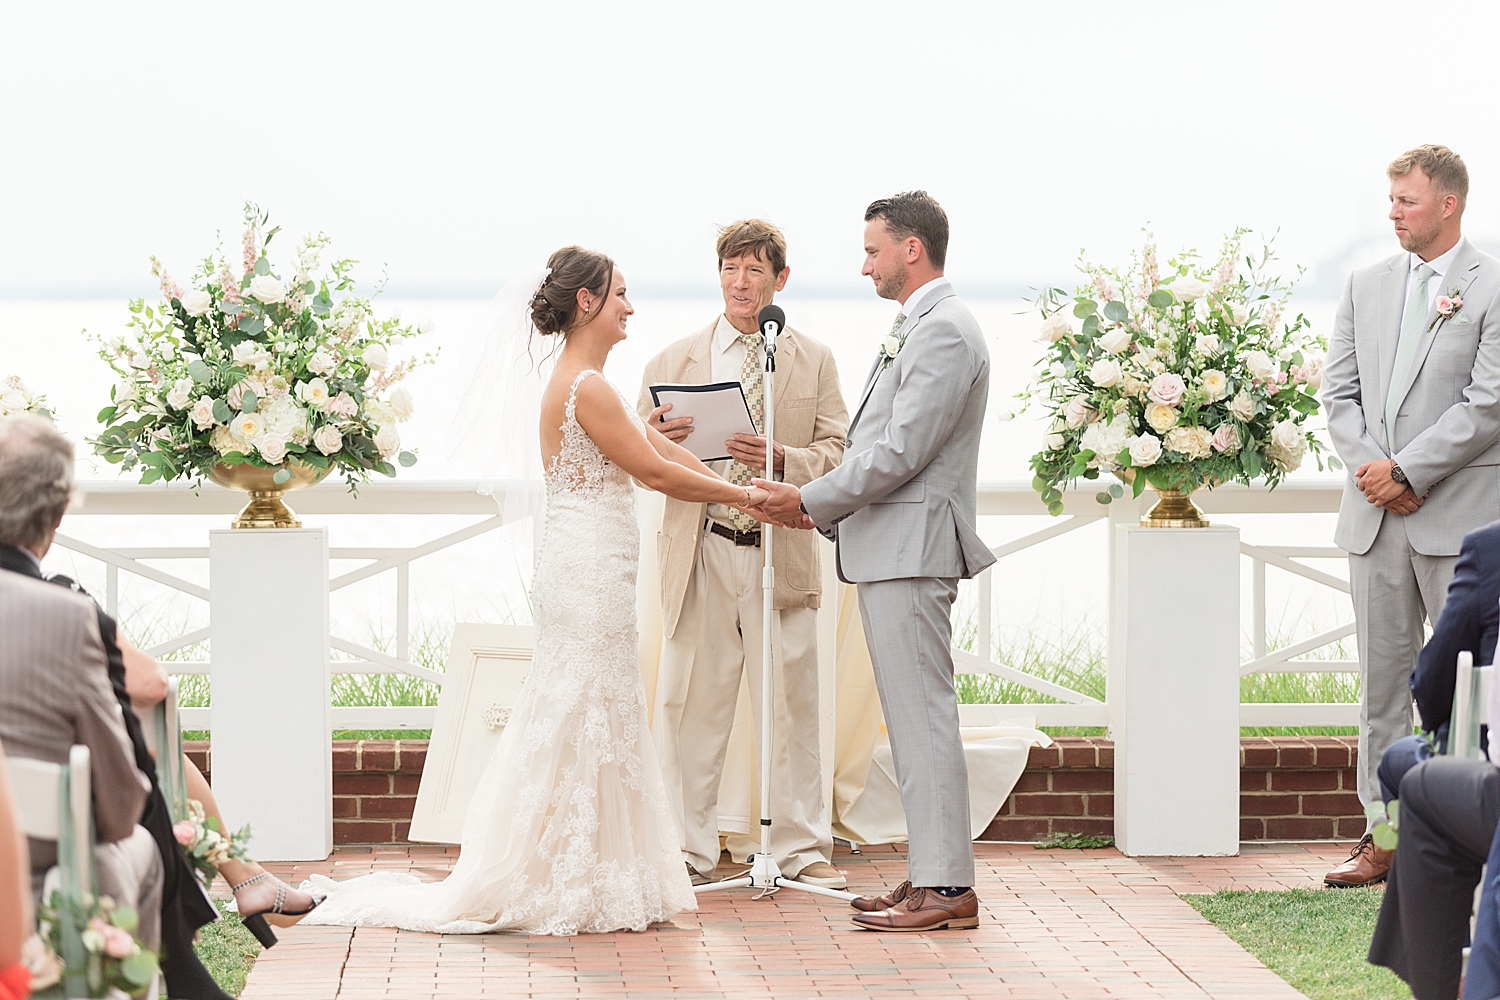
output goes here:
[[[926, 187], [974, 289], [1070, 280], [1150, 223], [1394, 249], [1384, 165], [1468, 163], [1500, 234], [1484, 3], [12, 3], [0, 295], [148, 292], [252, 198], [400, 295], [488, 295], [564, 243], [712, 294], [760, 214], [794, 285], [868, 294], [864, 205]], [[1476, 57], [1480, 55], [1480, 57]], [[1334, 270], [1342, 268], [1336, 264]], [[1324, 270], [1329, 270], [1326, 265]], [[1317, 274], [1320, 283], [1341, 276]], [[1071, 283], [1071, 282], [1070, 282]]]

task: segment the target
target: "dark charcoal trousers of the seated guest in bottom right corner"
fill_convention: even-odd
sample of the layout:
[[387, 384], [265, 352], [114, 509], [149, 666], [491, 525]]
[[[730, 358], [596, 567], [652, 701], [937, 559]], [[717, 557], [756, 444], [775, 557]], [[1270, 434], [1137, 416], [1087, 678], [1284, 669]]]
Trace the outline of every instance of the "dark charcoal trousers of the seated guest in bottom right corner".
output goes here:
[[[1432, 757], [1406, 774], [1398, 793], [1401, 838], [1370, 961], [1401, 976], [1416, 1000], [1452, 1000], [1468, 943], [1474, 886], [1500, 823], [1500, 768], [1488, 760]], [[1486, 955], [1480, 969], [1492, 969], [1494, 930], [1494, 921], [1486, 928], [1480, 913], [1476, 951]], [[1480, 940], [1484, 949], [1478, 949]], [[1470, 966], [1464, 997], [1491, 1000], [1496, 979], [1490, 972], [1476, 979], [1480, 969]]]

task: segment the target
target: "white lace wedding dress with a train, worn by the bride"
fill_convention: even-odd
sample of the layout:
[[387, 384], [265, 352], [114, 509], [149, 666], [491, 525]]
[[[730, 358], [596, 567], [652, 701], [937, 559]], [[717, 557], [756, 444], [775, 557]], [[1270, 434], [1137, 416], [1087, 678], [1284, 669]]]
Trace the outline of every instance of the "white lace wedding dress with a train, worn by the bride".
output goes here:
[[458, 865], [438, 883], [314, 876], [308, 888], [328, 898], [303, 924], [570, 936], [696, 909], [646, 729], [634, 492], [574, 415], [596, 375], [573, 381], [546, 471], [532, 666], [474, 790]]

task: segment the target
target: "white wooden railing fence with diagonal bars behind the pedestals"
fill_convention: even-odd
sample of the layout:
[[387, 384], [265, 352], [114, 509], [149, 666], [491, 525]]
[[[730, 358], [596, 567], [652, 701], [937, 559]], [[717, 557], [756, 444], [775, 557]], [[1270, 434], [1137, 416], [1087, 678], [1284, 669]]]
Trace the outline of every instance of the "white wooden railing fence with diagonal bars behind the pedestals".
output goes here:
[[[1276, 490], [1227, 486], [1209, 493], [1196, 495], [1196, 501], [1209, 514], [1326, 514], [1338, 510], [1338, 484], [1287, 484]], [[1064, 496], [1064, 516], [1030, 531], [1018, 538], [994, 546], [999, 562], [976, 579], [976, 637], [975, 652], [954, 651], [954, 660], [962, 672], [987, 673], [1018, 684], [1040, 696], [1056, 699], [1058, 703], [1026, 705], [1026, 714], [1035, 714], [1041, 726], [1106, 726], [1108, 706], [1088, 694], [1072, 691], [1044, 678], [1034, 676], [993, 658], [994, 649], [994, 573], [1006, 567], [1006, 558], [1035, 549], [1052, 540], [1068, 535], [1096, 522], [1132, 523], [1152, 493], [1140, 501], [1116, 501], [1101, 507], [1095, 490], [1072, 490]], [[399, 673], [434, 684], [442, 682], [442, 673], [416, 664], [410, 658], [411, 643], [411, 564], [417, 559], [460, 546], [502, 526], [502, 519], [489, 496], [476, 492], [466, 481], [394, 481], [372, 483], [351, 496], [342, 484], [326, 483], [290, 496], [300, 514], [310, 516], [366, 516], [390, 514], [404, 519], [422, 516], [476, 516], [472, 523], [438, 535], [429, 541], [405, 547], [333, 547], [328, 550], [333, 562], [363, 562], [354, 570], [334, 573], [330, 570], [328, 589], [339, 591], [354, 583], [381, 574], [393, 574], [396, 585], [396, 637], [394, 655], [372, 649], [364, 643], [330, 634], [328, 649], [351, 658], [333, 658], [332, 670], [345, 675]], [[194, 492], [183, 486], [134, 486], [123, 483], [86, 483], [80, 489], [80, 501], [70, 517], [87, 516], [200, 516], [234, 514], [244, 502], [243, 493], [204, 486]], [[1044, 514], [1036, 495], [1023, 483], [984, 484], [980, 490], [981, 531], [994, 525], [999, 517], [1035, 519]], [[140, 577], [170, 588], [200, 601], [208, 600], [208, 588], [164, 570], [159, 564], [177, 561], [207, 561], [207, 546], [164, 547], [105, 547], [90, 544], [64, 531], [57, 544], [78, 556], [104, 564], [105, 603], [111, 615], [120, 607], [120, 574]], [[1108, 532], [1110, 564], [1113, 565], [1114, 532]], [[1251, 564], [1251, 660], [1240, 664], [1242, 675], [1251, 673], [1330, 673], [1358, 672], [1354, 661], [1346, 660], [1299, 660], [1320, 646], [1338, 642], [1353, 634], [1353, 624], [1344, 624], [1296, 642], [1274, 652], [1266, 649], [1266, 571], [1288, 573], [1332, 591], [1348, 594], [1347, 580], [1323, 570], [1305, 565], [1304, 561], [1342, 559], [1341, 550], [1324, 546], [1256, 546], [1242, 543], [1242, 555]], [[1113, 574], [1112, 574], [1113, 576]], [[1350, 615], [1352, 618], [1352, 615]], [[1113, 625], [1112, 625], [1113, 627]], [[146, 652], [160, 657], [168, 652], [202, 643], [208, 628], [194, 628], [178, 636], [160, 640]], [[1113, 645], [1113, 643], [1112, 643]], [[212, 655], [212, 654], [210, 654]], [[207, 675], [210, 661], [177, 660], [165, 664], [178, 675]], [[429, 706], [362, 706], [334, 708], [334, 729], [430, 729], [436, 709]], [[183, 726], [188, 729], [210, 729], [210, 709], [182, 709]], [[1258, 703], [1240, 706], [1242, 726], [1353, 726], [1358, 721], [1358, 705], [1346, 703]]]

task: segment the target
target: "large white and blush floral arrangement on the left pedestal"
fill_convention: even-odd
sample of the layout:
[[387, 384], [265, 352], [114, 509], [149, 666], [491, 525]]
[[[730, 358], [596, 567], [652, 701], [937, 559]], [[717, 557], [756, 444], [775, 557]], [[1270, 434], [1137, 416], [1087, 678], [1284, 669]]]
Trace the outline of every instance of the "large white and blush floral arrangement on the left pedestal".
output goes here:
[[[340, 469], [351, 489], [370, 472], [412, 465], [399, 424], [412, 412], [399, 382], [422, 360], [393, 361], [393, 346], [428, 327], [376, 318], [370, 298], [352, 294], [357, 261], [320, 265], [328, 238], [308, 235], [290, 279], [267, 249], [278, 228], [244, 207], [240, 274], [222, 256], [204, 258], [184, 289], [153, 256], [160, 303], [130, 301], [126, 334], [98, 339], [99, 355], [120, 378], [99, 412], [94, 451], [141, 483], [196, 477], [214, 465]], [[376, 294], [380, 289], [376, 288]]]

